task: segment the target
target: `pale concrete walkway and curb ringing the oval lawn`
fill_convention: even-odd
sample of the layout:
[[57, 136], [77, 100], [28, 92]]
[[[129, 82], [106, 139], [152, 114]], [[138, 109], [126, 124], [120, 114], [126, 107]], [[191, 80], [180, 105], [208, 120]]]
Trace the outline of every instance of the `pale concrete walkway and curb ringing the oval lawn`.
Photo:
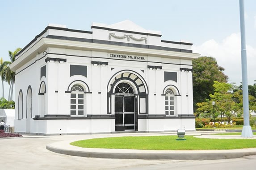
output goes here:
[[[240, 136], [209, 135], [216, 132], [186, 132], [186, 135], [193, 135], [197, 138], [238, 138]], [[218, 133], [224, 133], [219, 131]], [[227, 158], [241, 158], [243, 156], [256, 155], [256, 148], [237, 150], [127, 150], [127, 149], [95, 149], [71, 146], [69, 143], [77, 140], [90, 138], [106, 138], [121, 136], [159, 136], [176, 135], [176, 133], [128, 133], [128, 134], [101, 134], [101, 135], [73, 135], [66, 136], [61, 142], [48, 144], [46, 149], [72, 156], [90, 158], [118, 158], [118, 159], [176, 159], [176, 160], [214, 160]], [[246, 138], [256, 139], [254, 138]]]

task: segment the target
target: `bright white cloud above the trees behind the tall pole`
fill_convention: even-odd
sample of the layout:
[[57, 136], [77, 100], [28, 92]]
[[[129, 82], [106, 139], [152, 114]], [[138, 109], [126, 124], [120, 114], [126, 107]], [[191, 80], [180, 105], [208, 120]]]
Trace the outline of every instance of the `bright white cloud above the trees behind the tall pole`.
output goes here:
[[[201, 53], [201, 56], [215, 57], [218, 65], [225, 68], [224, 73], [229, 77], [228, 81], [239, 85], [242, 82], [240, 42], [240, 33], [232, 33], [222, 42], [207, 40], [199, 46], [193, 46], [193, 53]], [[252, 85], [255, 83], [254, 80], [256, 80], [256, 48], [247, 45], [246, 49], [248, 84]]]

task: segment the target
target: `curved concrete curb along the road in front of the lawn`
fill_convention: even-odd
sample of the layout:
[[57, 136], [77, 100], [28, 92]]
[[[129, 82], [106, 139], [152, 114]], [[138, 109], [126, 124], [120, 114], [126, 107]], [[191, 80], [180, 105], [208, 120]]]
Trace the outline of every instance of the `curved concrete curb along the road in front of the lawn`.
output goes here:
[[[58, 142], [56, 142], [57, 145]], [[243, 156], [256, 155], [256, 148], [238, 150], [124, 150], [124, 149], [92, 149], [67, 146], [71, 149], [63, 149], [54, 144], [46, 146], [59, 154], [89, 158], [112, 159], [176, 159], [176, 160], [216, 160], [241, 158]], [[73, 149], [72, 149], [73, 148]]]

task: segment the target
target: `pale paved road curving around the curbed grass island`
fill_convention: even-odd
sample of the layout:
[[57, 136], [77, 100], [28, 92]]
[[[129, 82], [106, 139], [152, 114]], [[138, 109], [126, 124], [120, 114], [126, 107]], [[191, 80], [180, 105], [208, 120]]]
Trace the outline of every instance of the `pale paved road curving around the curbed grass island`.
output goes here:
[[[83, 135], [80, 136], [83, 138]], [[30, 138], [0, 139], [0, 169], [4, 170], [198, 170], [243, 169], [255, 167], [256, 156], [237, 159], [198, 161], [198, 160], [140, 160], [84, 158], [57, 154], [46, 150], [46, 145], [72, 136], [31, 136]], [[77, 138], [77, 137], [76, 137]]]

